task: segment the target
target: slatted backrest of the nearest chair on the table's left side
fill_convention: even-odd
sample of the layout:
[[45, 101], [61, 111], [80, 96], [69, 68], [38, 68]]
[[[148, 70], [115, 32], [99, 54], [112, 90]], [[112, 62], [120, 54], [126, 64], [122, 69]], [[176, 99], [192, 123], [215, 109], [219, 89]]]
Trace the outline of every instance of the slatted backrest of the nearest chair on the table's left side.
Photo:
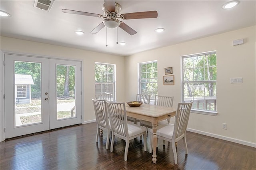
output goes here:
[[127, 127], [127, 117], [126, 117], [126, 109], [124, 102], [116, 103], [106, 101], [108, 115], [110, 118], [110, 124], [112, 128], [112, 132], [124, 136], [129, 137], [128, 135], [128, 127]]

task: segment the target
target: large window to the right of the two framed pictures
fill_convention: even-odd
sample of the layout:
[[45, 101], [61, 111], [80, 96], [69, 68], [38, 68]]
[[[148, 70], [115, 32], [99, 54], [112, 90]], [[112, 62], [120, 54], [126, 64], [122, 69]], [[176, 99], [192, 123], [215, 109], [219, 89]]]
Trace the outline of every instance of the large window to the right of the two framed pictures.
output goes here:
[[182, 69], [182, 101], [194, 100], [194, 112], [216, 114], [216, 51], [182, 56]]

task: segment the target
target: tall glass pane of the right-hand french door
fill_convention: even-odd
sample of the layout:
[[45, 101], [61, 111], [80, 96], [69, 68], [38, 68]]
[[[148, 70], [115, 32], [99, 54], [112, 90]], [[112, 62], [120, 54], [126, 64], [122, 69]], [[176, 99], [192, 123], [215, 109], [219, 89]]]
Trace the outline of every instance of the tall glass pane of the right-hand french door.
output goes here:
[[76, 117], [76, 66], [56, 65], [57, 120]]

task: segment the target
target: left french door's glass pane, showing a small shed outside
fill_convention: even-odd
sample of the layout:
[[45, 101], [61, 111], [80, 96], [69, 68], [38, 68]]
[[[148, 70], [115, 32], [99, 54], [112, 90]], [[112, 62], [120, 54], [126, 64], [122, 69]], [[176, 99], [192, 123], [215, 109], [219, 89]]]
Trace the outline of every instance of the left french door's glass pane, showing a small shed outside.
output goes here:
[[42, 123], [41, 63], [14, 62], [15, 127]]

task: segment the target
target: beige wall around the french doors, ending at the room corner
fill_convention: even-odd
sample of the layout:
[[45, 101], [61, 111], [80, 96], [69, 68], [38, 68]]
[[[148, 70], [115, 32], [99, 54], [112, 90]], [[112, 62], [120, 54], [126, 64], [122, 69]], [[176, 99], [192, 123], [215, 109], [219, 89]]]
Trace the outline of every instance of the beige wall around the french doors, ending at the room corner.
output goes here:
[[95, 98], [95, 62], [116, 64], [116, 72], [118, 73], [116, 74], [116, 98], [124, 101], [124, 57], [7, 37], [1, 37], [1, 51], [82, 60], [84, 79], [84, 88], [82, 89], [84, 94], [83, 117], [85, 123], [95, 120], [92, 106], [92, 98]]

